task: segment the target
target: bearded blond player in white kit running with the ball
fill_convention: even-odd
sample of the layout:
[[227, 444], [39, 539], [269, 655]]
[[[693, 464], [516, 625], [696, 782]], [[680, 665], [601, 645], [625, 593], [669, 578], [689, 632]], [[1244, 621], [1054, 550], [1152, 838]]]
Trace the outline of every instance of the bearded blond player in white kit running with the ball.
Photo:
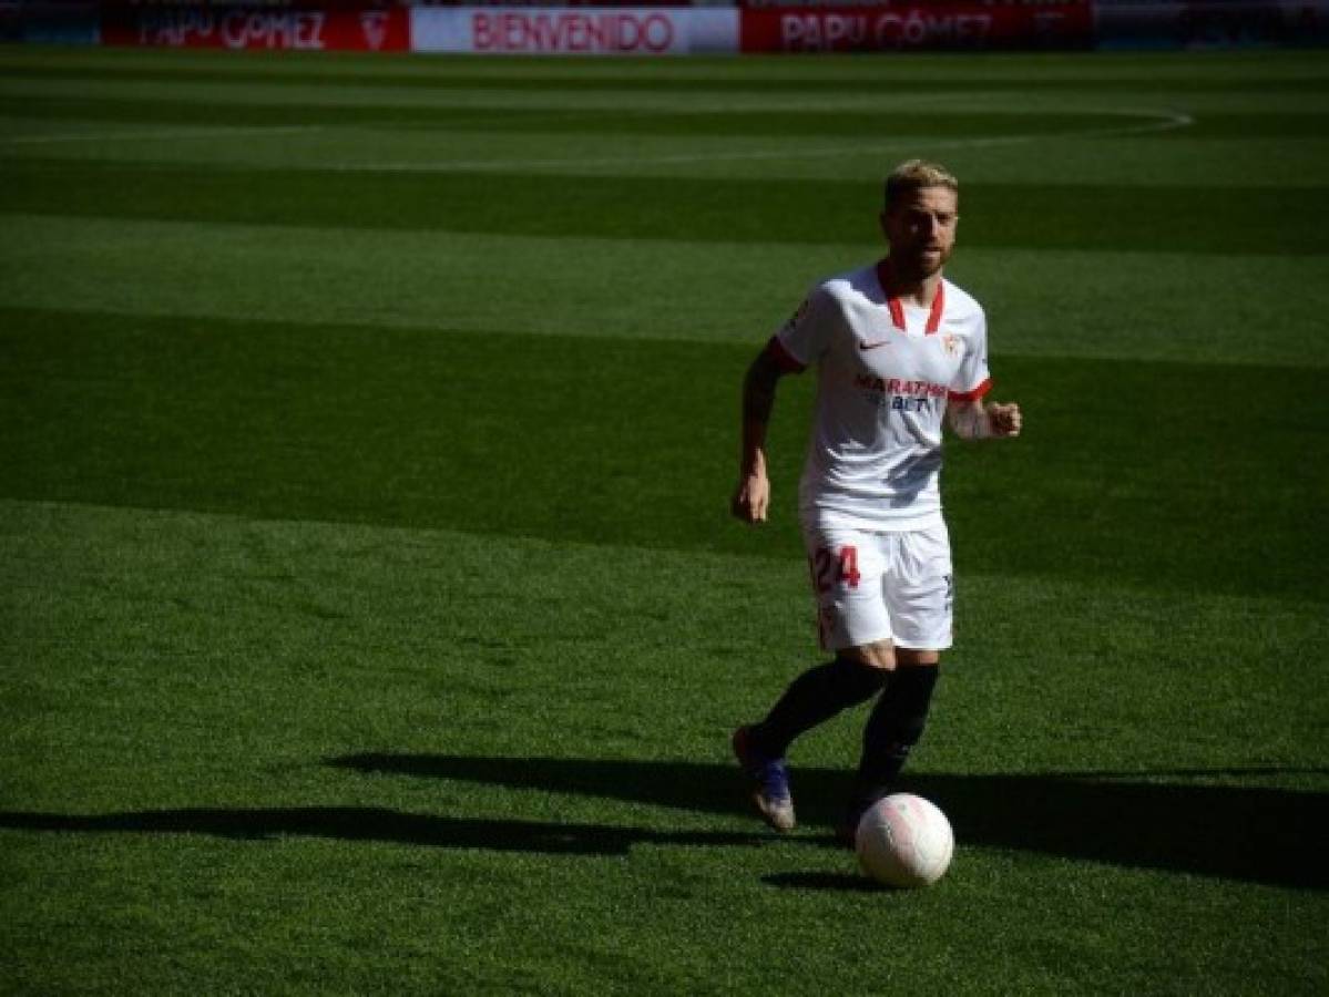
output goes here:
[[952, 643], [950, 540], [941, 512], [942, 416], [965, 439], [1015, 437], [1015, 404], [985, 404], [987, 325], [942, 276], [956, 243], [960, 185], [910, 159], [886, 178], [878, 263], [817, 284], [752, 361], [743, 382], [743, 455], [734, 515], [762, 523], [771, 502], [766, 435], [783, 374], [817, 369], [799, 518], [821, 647], [833, 660], [799, 676], [734, 753], [771, 827], [795, 826], [785, 754], [841, 710], [877, 697], [837, 835], [892, 785], [918, 742]]

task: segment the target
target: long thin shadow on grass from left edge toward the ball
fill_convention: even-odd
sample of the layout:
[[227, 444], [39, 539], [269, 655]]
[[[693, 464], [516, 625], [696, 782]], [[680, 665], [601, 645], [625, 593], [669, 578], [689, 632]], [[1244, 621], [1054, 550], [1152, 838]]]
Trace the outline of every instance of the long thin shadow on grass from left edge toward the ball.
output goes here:
[[395, 842], [548, 855], [625, 855], [634, 844], [752, 846], [760, 831], [649, 831], [610, 824], [480, 820], [404, 814], [383, 807], [185, 808], [130, 814], [65, 815], [0, 812], [0, 828], [20, 831], [206, 834], [264, 840], [288, 835], [347, 842]]

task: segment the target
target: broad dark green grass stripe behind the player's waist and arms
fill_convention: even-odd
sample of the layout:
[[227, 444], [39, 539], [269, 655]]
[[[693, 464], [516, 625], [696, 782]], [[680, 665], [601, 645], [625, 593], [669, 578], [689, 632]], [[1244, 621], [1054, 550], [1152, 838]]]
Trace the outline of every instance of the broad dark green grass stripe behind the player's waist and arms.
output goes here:
[[[809, 377], [777, 406], [776, 523], [727, 518], [750, 348], [0, 315], [9, 498], [800, 556]], [[998, 373], [1027, 431], [950, 447], [964, 571], [1329, 596], [1320, 372]]]

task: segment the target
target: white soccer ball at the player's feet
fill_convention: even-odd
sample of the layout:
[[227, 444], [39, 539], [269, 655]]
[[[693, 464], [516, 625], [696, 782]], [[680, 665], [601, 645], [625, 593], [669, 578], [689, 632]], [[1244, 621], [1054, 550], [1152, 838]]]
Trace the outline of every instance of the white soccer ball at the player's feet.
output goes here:
[[894, 793], [868, 807], [855, 835], [863, 871], [888, 887], [926, 887], [950, 866], [956, 836], [922, 797]]

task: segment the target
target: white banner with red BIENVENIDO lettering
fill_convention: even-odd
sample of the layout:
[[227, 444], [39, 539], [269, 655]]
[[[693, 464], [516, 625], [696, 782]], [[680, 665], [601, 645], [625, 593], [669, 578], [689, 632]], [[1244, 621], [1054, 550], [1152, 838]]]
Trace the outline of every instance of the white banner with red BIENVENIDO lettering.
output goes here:
[[416, 7], [416, 52], [686, 56], [736, 52], [738, 8]]

